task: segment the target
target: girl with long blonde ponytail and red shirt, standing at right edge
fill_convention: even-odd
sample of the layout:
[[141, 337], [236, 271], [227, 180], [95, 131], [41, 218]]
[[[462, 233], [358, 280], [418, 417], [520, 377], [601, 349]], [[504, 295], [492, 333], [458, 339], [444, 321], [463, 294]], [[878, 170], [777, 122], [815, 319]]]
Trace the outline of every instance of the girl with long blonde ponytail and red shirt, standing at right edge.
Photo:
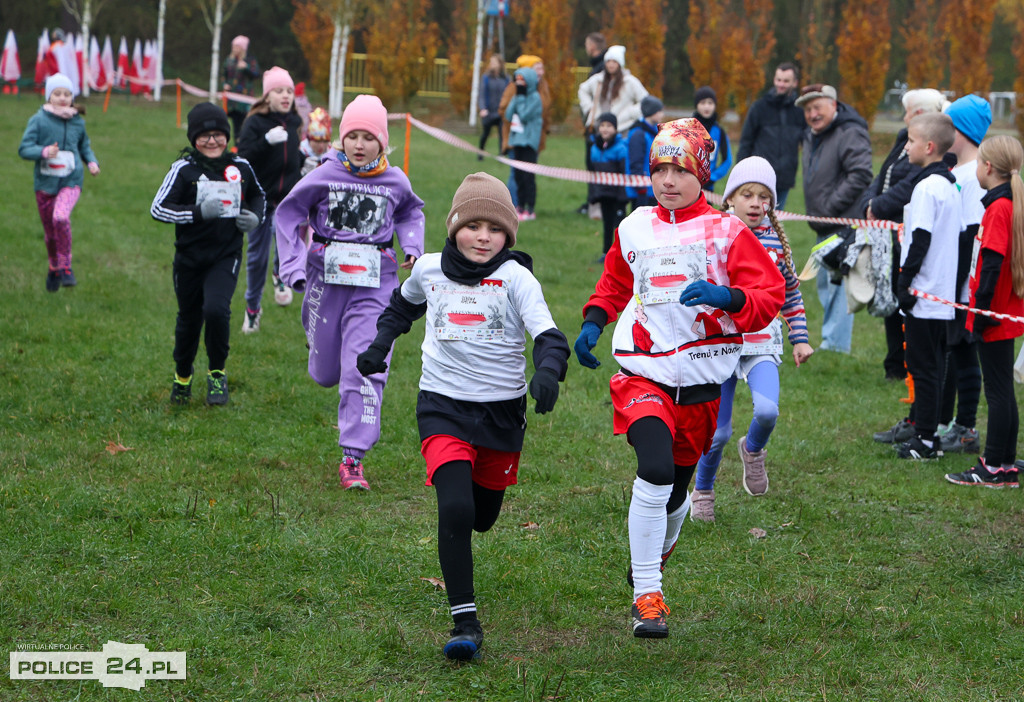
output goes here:
[[[988, 190], [985, 215], [975, 243], [971, 307], [1024, 316], [1024, 149], [1012, 136], [985, 139], [978, 149], [978, 182]], [[1024, 323], [968, 313], [967, 327], [981, 339], [978, 355], [988, 402], [985, 452], [970, 470], [947, 474], [956, 485], [1018, 487], [1017, 433], [1020, 420], [1014, 393], [1014, 340]]]

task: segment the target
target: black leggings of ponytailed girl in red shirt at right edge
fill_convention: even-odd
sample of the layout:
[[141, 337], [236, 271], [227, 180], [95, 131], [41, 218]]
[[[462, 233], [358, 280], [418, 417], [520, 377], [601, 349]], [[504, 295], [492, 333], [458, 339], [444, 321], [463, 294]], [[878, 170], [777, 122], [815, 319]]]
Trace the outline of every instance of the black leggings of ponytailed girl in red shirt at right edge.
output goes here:
[[981, 342], [978, 345], [981, 375], [988, 402], [985, 432], [985, 464], [990, 468], [1012, 466], [1017, 457], [1017, 399], [1014, 396], [1014, 340]]

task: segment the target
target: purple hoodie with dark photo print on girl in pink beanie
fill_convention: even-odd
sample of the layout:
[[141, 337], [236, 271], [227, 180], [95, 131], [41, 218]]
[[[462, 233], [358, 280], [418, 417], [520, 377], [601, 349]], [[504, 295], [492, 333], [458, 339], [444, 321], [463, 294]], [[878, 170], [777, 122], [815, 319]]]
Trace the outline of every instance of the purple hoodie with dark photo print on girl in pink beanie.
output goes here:
[[423, 256], [423, 201], [413, 192], [401, 169], [393, 166], [380, 175], [360, 178], [332, 153], [278, 206], [280, 275], [287, 286], [300, 291], [306, 280], [302, 232], [307, 222], [316, 238], [379, 246], [397, 238], [406, 256]]

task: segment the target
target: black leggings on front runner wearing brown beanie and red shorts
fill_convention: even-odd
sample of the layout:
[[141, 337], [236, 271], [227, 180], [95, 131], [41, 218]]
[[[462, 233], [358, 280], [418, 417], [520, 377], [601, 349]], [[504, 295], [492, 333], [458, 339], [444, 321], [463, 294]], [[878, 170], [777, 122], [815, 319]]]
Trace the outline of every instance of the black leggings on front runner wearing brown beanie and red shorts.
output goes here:
[[444, 464], [433, 477], [437, 494], [437, 559], [449, 604], [473, 602], [474, 531], [484, 532], [498, 521], [505, 490], [488, 490], [473, 482], [468, 460]]

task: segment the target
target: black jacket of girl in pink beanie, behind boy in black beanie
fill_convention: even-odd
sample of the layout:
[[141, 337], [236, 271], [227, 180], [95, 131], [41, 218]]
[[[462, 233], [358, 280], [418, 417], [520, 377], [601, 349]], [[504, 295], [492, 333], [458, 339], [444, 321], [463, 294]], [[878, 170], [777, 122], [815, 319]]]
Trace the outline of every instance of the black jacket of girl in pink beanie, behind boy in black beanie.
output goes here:
[[[274, 127], [288, 131], [288, 141], [267, 143], [266, 133]], [[236, 143], [239, 156], [252, 164], [259, 184], [266, 192], [267, 203], [274, 207], [285, 199], [295, 183], [299, 182], [305, 157], [299, 151], [299, 130], [302, 118], [294, 109], [287, 115], [267, 112], [246, 118]]]

